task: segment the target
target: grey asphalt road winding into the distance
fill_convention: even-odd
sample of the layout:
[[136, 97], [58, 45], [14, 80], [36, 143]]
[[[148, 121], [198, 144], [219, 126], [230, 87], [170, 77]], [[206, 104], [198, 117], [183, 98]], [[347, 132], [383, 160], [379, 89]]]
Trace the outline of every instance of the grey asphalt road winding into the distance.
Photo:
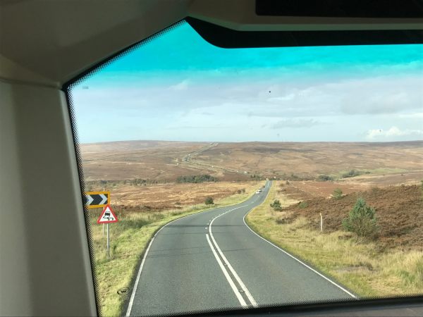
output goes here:
[[266, 198], [180, 218], [164, 226], [141, 263], [127, 316], [352, 299], [252, 232], [244, 216]]

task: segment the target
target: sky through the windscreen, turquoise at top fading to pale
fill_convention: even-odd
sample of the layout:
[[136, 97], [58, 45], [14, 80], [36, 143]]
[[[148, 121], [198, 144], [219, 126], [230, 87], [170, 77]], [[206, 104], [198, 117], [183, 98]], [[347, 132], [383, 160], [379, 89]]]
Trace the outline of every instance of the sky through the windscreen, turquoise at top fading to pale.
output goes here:
[[423, 139], [423, 45], [222, 49], [184, 23], [73, 87], [79, 142]]

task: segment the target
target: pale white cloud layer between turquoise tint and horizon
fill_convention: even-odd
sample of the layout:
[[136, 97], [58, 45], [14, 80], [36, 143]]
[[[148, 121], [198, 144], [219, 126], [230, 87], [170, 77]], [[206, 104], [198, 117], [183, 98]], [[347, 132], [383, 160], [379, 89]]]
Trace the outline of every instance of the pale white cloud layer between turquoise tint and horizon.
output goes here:
[[[108, 131], [116, 139], [393, 141], [422, 139], [421, 85], [415, 75], [219, 81], [184, 75], [161, 85], [90, 85], [75, 89], [73, 100], [84, 141], [104, 139], [93, 125], [99, 118], [113, 123]], [[378, 126], [393, 128], [367, 131]], [[173, 127], [190, 128], [166, 129]]]

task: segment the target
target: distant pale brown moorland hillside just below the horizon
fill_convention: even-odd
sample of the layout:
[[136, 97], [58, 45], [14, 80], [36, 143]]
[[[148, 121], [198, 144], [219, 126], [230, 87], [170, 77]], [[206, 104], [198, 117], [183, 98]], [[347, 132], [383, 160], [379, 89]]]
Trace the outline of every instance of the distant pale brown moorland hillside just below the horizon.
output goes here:
[[[422, 141], [128, 141], [82, 144], [80, 149], [86, 181], [142, 178], [149, 182], [175, 182], [178, 176], [200, 174], [229, 181], [251, 180], [252, 175], [314, 180], [319, 174], [339, 178], [355, 168], [368, 170], [378, 177], [391, 175], [391, 179], [385, 181], [393, 184], [404, 178], [419, 180], [419, 175], [412, 173], [423, 173]], [[360, 182], [367, 180], [372, 182], [370, 178]]]

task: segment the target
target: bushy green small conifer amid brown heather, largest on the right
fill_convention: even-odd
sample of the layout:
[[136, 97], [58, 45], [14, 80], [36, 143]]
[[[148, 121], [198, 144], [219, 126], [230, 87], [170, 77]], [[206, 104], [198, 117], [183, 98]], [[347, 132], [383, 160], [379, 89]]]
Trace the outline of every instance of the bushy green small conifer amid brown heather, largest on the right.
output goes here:
[[357, 240], [364, 237], [374, 237], [377, 232], [374, 208], [367, 206], [362, 198], [357, 199], [348, 218], [342, 221], [343, 228], [357, 234]]

